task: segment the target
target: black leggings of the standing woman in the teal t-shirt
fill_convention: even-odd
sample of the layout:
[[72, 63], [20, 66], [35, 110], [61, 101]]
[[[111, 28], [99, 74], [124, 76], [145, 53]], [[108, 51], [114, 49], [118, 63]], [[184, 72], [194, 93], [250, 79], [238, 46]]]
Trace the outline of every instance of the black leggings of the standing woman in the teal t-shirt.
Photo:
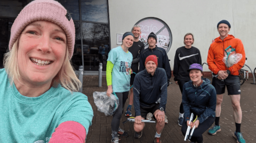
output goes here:
[[119, 106], [118, 106], [115, 114], [113, 115], [113, 119], [111, 121], [111, 129], [112, 129], [113, 133], [116, 135], [116, 137], [117, 137], [118, 127], [120, 124], [120, 119], [123, 114], [124, 104], [126, 102], [126, 99], [128, 98], [128, 94], [129, 94], [129, 91], [116, 92], [116, 96], [119, 99]]

